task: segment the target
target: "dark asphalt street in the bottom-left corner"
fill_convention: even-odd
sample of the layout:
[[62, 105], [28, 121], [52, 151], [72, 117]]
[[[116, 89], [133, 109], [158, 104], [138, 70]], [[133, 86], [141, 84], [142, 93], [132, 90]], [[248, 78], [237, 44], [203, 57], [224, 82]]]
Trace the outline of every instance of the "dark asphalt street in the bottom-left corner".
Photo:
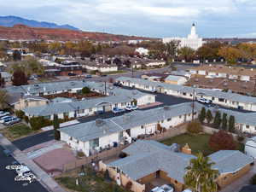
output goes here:
[[5, 166], [11, 165], [15, 159], [12, 156], [7, 157], [3, 154], [3, 147], [0, 146], [0, 191], [1, 192], [48, 192], [47, 189], [34, 181], [15, 181], [15, 170], [7, 170]]

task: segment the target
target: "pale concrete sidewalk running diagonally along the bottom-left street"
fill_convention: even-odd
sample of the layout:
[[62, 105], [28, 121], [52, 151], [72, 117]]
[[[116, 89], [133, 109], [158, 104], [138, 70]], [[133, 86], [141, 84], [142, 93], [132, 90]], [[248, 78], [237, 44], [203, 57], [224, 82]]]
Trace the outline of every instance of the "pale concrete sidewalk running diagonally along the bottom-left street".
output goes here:
[[22, 153], [19, 148], [16, 148], [13, 143], [10, 143], [6, 137], [3, 137], [2, 134], [0, 134], [0, 145], [3, 146], [3, 148], [9, 149], [9, 151], [12, 152], [15, 160], [18, 160], [20, 163], [28, 166], [38, 178], [38, 182], [42, 183], [50, 192], [67, 192], [66, 190], [62, 189], [52, 177], [49, 177], [44, 170], [30, 160], [26, 154]]

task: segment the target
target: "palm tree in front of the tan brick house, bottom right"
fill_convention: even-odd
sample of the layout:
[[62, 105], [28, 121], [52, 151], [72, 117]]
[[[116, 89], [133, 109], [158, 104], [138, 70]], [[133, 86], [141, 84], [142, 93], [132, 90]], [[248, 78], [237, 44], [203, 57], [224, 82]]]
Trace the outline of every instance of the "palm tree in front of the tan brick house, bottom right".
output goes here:
[[190, 165], [186, 167], [185, 185], [194, 192], [217, 191], [218, 185], [215, 180], [218, 177], [218, 170], [212, 169], [214, 163], [202, 153], [197, 154], [196, 157], [190, 160]]

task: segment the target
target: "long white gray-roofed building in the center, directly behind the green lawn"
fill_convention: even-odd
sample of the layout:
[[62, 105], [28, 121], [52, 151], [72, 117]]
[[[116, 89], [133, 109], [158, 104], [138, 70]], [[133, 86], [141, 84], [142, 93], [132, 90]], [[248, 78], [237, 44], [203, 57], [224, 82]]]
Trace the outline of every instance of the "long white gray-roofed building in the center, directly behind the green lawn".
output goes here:
[[[195, 104], [195, 118], [201, 107], [201, 104]], [[192, 119], [192, 110], [192, 103], [186, 102], [70, 125], [60, 129], [61, 141], [89, 156], [124, 141], [131, 143], [132, 138], [140, 135], [155, 134], [159, 125], [168, 130], [188, 122]]]

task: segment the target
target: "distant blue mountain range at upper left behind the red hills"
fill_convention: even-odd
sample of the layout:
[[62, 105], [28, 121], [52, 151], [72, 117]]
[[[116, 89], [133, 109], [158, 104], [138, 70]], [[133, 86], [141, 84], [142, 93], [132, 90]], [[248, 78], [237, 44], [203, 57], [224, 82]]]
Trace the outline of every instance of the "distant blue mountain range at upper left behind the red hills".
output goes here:
[[0, 26], [8, 26], [12, 27], [17, 24], [22, 24], [25, 26], [31, 27], [44, 27], [44, 28], [63, 28], [63, 29], [71, 29], [71, 30], [79, 30], [74, 26], [70, 25], [58, 25], [51, 22], [38, 21], [38, 20], [27, 20], [21, 17], [9, 15], [9, 16], [0, 16]]

